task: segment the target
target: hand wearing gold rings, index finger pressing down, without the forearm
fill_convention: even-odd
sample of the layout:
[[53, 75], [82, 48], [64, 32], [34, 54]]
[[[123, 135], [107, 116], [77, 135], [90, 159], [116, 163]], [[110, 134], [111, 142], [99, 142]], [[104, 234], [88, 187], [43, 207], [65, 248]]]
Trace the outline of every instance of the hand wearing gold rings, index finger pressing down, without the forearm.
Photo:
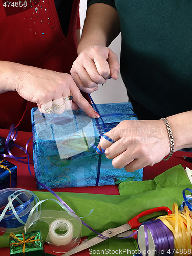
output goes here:
[[[81, 108], [90, 117], [99, 117], [99, 114], [84, 99], [72, 77], [66, 73], [21, 65], [15, 90], [24, 99], [36, 102], [42, 113], [48, 114], [50, 109], [50, 113], [53, 111], [56, 114], [62, 114], [65, 109], [72, 107], [72, 109]], [[73, 100], [63, 99], [71, 93]]]

